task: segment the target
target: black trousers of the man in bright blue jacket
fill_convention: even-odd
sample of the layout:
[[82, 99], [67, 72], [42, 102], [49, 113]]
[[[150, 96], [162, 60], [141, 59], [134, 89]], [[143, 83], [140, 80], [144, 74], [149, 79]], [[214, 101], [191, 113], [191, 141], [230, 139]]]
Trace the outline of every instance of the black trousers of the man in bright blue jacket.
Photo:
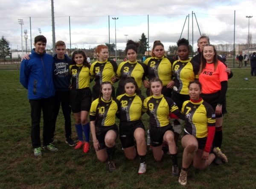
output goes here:
[[54, 97], [47, 99], [30, 99], [31, 107], [31, 140], [32, 147], [41, 147], [40, 139], [40, 121], [41, 121], [41, 110], [43, 111], [43, 144], [44, 146], [49, 145], [51, 142], [52, 132], [52, 117], [54, 108]]

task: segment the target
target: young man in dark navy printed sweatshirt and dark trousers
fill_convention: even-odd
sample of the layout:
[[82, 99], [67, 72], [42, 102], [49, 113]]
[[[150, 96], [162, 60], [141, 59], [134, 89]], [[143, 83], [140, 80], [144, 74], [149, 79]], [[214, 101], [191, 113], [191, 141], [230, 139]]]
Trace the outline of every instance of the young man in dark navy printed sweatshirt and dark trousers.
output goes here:
[[71, 64], [71, 58], [66, 54], [66, 44], [64, 41], [57, 41], [55, 43], [54, 59], [54, 71], [53, 71], [53, 83], [55, 86], [55, 98], [54, 98], [54, 116], [52, 122], [52, 141], [55, 132], [56, 120], [60, 110], [65, 119], [65, 136], [66, 143], [70, 146], [76, 146], [75, 141], [71, 138], [71, 109], [69, 106], [70, 101], [70, 74], [69, 66]]

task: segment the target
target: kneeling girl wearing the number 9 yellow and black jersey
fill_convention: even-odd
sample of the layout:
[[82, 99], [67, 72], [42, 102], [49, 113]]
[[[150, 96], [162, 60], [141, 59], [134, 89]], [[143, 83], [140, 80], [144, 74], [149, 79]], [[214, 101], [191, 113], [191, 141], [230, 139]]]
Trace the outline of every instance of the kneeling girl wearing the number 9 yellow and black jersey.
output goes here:
[[161, 93], [163, 84], [159, 78], [151, 79], [149, 86], [152, 96], [144, 100], [143, 111], [149, 115], [149, 131], [154, 158], [156, 161], [163, 158], [162, 144], [165, 141], [172, 156], [172, 175], [178, 176], [177, 146], [174, 141], [172, 125], [169, 122], [169, 114], [175, 113], [182, 119], [184, 119], [184, 115], [180, 113], [171, 98], [163, 96]]

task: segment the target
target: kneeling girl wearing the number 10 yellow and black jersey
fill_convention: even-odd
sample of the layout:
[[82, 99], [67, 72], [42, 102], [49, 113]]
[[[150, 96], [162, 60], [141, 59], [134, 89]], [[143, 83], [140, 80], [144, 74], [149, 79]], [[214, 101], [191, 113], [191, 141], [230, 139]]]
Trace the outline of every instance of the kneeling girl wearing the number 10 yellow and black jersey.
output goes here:
[[90, 127], [93, 137], [93, 147], [101, 162], [108, 160], [108, 170], [113, 172], [116, 167], [113, 162], [115, 141], [118, 136], [116, 113], [119, 113], [118, 102], [111, 97], [111, 82], [102, 82], [100, 96], [92, 102], [90, 108]]

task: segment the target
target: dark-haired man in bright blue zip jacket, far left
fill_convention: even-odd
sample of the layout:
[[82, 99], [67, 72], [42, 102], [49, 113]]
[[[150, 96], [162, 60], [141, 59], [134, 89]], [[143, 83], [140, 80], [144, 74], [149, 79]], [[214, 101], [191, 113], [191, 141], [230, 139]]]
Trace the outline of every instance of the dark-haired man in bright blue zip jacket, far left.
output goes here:
[[58, 149], [51, 143], [52, 115], [54, 110], [55, 89], [52, 81], [54, 62], [46, 54], [47, 39], [43, 35], [35, 37], [35, 48], [29, 60], [23, 59], [20, 64], [20, 83], [28, 90], [31, 107], [31, 140], [36, 157], [42, 155], [40, 139], [41, 110], [43, 111], [43, 145], [51, 152]]

